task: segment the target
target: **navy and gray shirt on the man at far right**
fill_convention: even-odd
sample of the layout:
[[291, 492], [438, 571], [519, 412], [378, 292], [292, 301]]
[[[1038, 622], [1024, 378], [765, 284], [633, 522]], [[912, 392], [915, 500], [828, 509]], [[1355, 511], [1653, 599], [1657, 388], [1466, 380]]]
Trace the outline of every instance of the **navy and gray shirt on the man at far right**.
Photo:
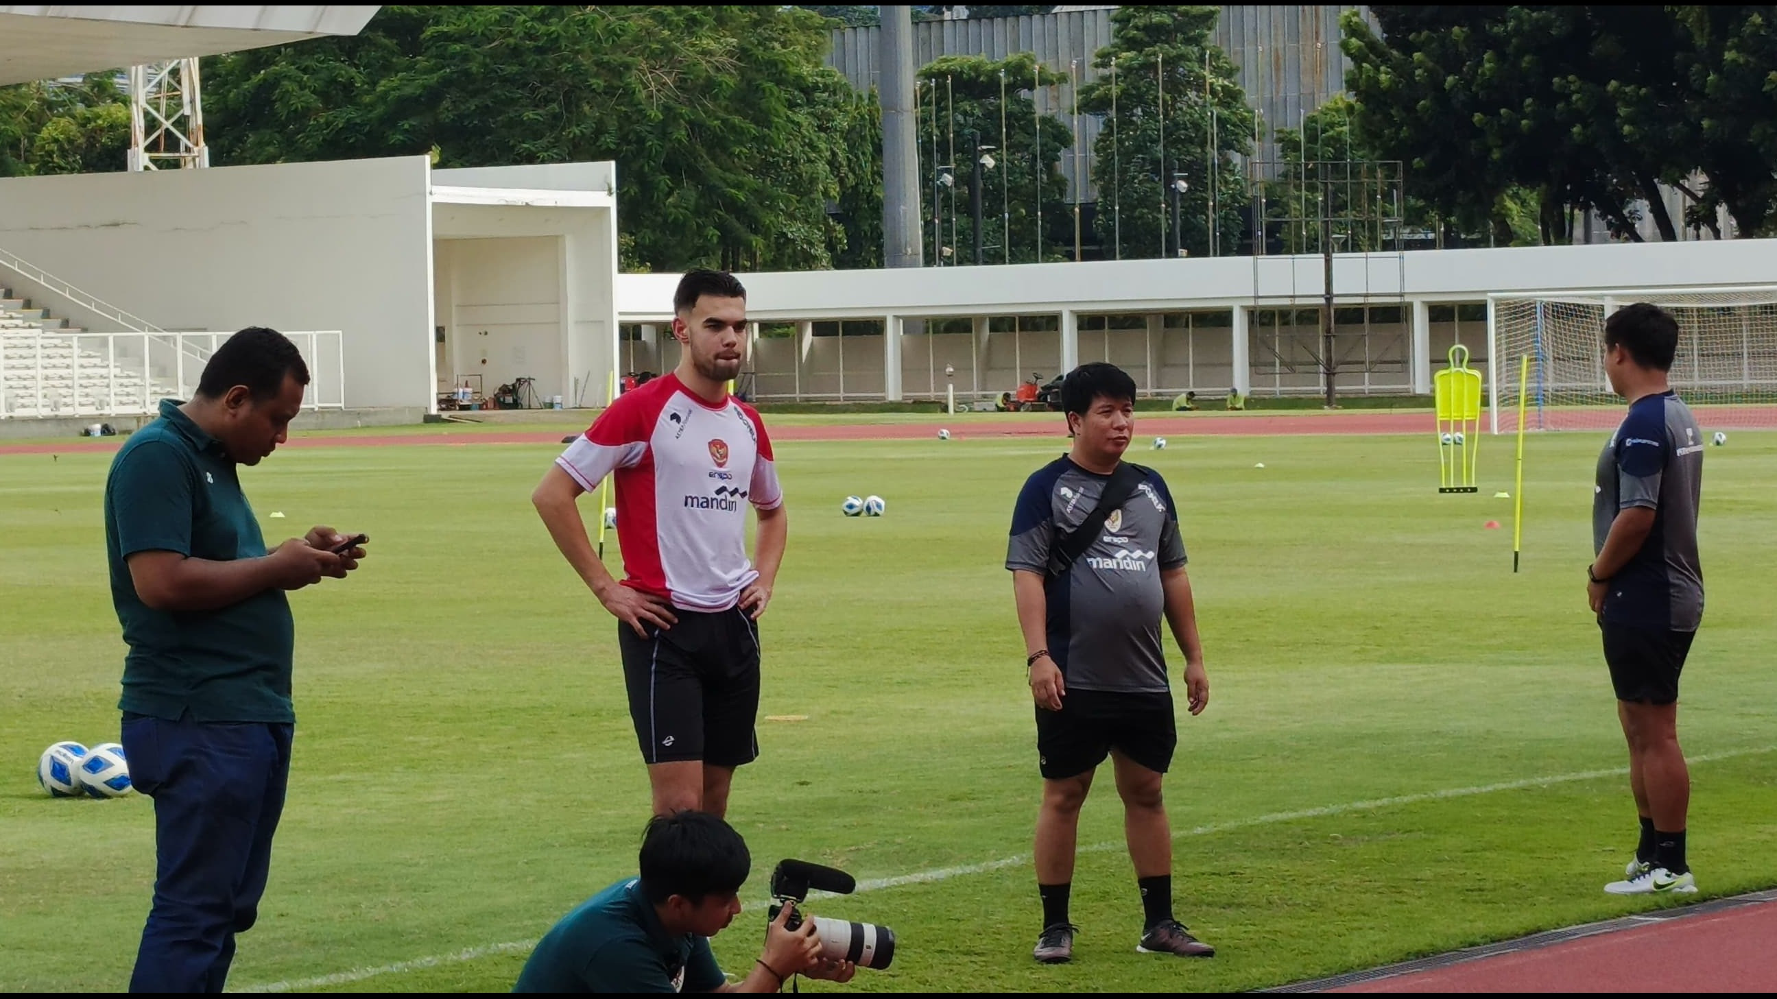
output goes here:
[[1702, 430], [1677, 395], [1635, 400], [1598, 455], [1592, 551], [1605, 549], [1621, 510], [1647, 507], [1654, 526], [1642, 549], [1610, 578], [1605, 620], [1658, 631], [1702, 624], [1697, 508], [1702, 501]]

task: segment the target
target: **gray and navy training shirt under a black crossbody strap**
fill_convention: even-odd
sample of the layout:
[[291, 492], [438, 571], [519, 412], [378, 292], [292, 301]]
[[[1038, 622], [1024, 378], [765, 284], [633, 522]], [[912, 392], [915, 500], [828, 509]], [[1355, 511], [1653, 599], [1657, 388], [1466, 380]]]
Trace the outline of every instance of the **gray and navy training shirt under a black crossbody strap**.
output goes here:
[[1048, 654], [1068, 690], [1164, 693], [1160, 571], [1185, 563], [1185, 542], [1160, 475], [1148, 469], [1064, 576], [1047, 572], [1057, 533], [1079, 528], [1109, 482], [1066, 457], [1031, 475], [1013, 508], [1006, 569], [1045, 576]]

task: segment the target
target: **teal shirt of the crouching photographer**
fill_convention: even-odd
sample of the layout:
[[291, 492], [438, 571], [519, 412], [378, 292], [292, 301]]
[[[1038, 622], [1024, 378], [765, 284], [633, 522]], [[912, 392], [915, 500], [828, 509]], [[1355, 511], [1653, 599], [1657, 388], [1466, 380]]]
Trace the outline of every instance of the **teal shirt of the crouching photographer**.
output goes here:
[[617, 882], [537, 942], [514, 992], [714, 992], [727, 983], [709, 940], [673, 937], [641, 894]]

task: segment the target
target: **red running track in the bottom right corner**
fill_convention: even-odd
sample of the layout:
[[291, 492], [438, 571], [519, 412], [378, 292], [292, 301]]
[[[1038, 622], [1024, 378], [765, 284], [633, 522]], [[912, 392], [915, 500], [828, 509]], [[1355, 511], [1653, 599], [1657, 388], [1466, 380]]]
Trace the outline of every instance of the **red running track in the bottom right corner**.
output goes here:
[[1772, 992], [1777, 901], [1468, 960], [1333, 992]]

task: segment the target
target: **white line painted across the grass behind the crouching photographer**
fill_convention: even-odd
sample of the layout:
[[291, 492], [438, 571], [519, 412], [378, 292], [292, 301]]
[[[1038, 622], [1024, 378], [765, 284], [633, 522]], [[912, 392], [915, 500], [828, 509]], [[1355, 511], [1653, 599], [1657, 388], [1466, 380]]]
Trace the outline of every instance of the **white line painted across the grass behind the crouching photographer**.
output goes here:
[[[1773, 750], [1777, 750], [1777, 745], [1757, 747], [1757, 748], [1740, 748], [1740, 750], [1713, 752], [1713, 754], [1704, 754], [1704, 755], [1693, 755], [1693, 757], [1688, 759], [1688, 763], [1713, 763], [1713, 761], [1718, 761], [1718, 759], [1734, 759], [1734, 757], [1740, 757], [1740, 755], [1761, 755], [1761, 754], [1768, 754], [1768, 752], [1773, 752]], [[1391, 798], [1370, 798], [1367, 802], [1347, 802], [1343, 805], [1322, 805], [1319, 809], [1297, 809], [1297, 811], [1292, 811], [1292, 812], [1271, 812], [1271, 814], [1255, 816], [1255, 818], [1249, 818], [1249, 819], [1235, 819], [1235, 821], [1224, 821], [1224, 823], [1215, 823], [1215, 825], [1199, 825], [1199, 827], [1194, 827], [1194, 828], [1178, 830], [1178, 832], [1173, 832], [1173, 839], [1183, 839], [1187, 835], [1214, 835], [1217, 832], [1233, 832], [1233, 830], [1239, 830], [1239, 828], [1253, 828], [1253, 827], [1260, 827], [1260, 825], [1276, 825], [1276, 823], [1287, 823], [1287, 821], [1319, 819], [1319, 818], [1327, 818], [1327, 816], [1343, 816], [1343, 814], [1351, 814], [1351, 812], [1370, 812], [1370, 811], [1377, 811], [1377, 809], [1393, 809], [1393, 807], [1400, 807], [1400, 805], [1418, 805], [1422, 802], [1443, 802], [1443, 800], [1448, 800], [1448, 798], [1471, 798], [1475, 795], [1494, 795], [1498, 791], [1523, 791], [1523, 789], [1528, 789], [1528, 787], [1550, 787], [1550, 786], [1555, 786], [1555, 784], [1576, 784], [1580, 780], [1598, 780], [1601, 777], [1622, 777], [1628, 771], [1630, 770], [1626, 766], [1614, 766], [1614, 768], [1608, 768], [1608, 770], [1580, 770], [1580, 771], [1574, 771], [1574, 773], [1555, 773], [1551, 777], [1525, 777], [1521, 780], [1502, 780], [1498, 784], [1478, 784], [1475, 787], [1446, 787], [1443, 791], [1420, 791], [1416, 795], [1395, 795]], [[1079, 851], [1080, 853], [1111, 853], [1114, 850], [1123, 850], [1123, 843], [1121, 841], [1093, 843], [1091, 846], [1082, 846]], [[858, 882], [858, 889], [853, 894], [869, 892], [869, 891], [896, 889], [896, 887], [901, 887], [901, 885], [926, 885], [926, 883], [933, 883], [933, 882], [947, 882], [951, 878], [967, 878], [967, 876], [972, 876], [972, 875], [986, 875], [990, 871], [1000, 871], [1000, 869], [1006, 869], [1006, 867], [1016, 867], [1016, 866], [1029, 864], [1029, 862], [1031, 862], [1031, 855], [1029, 853], [1018, 853], [1015, 857], [1002, 857], [999, 860], [988, 860], [984, 864], [960, 864], [956, 867], [936, 867], [936, 869], [931, 869], [931, 871], [917, 871], [917, 873], [912, 873], [912, 875], [897, 875], [897, 876], [892, 876], [892, 878], [869, 878], [869, 880]], [[812, 898], [821, 898], [821, 896], [826, 896], [826, 892], [810, 892], [810, 896]], [[826, 898], [832, 898], [832, 896], [826, 896]], [[759, 908], [764, 903], [755, 901], [755, 903], [748, 903], [746, 908]], [[379, 976], [384, 976], [384, 974], [405, 974], [409, 971], [419, 971], [419, 969], [428, 969], [428, 967], [441, 967], [441, 965], [462, 963], [462, 962], [473, 962], [473, 960], [480, 960], [480, 958], [492, 956], [492, 955], [510, 955], [510, 953], [528, 951], [528, 949], [531, 949], [535, 946], [537, 946], [537, 940], [512, 940], [508, 944], [489, 944], [489, 946], [483, 946], [483, 947], [469, 947], [469, 949], [464, 949], [464, 951], [457, 951], [453, 955], [437, 955], [437, 956], [430, 956], [430, 958], [414, 958], [410, 962], [396, 962], [396, 963], [387, 963], [387, 965], [380, 965], [380, 967], [361, 967], [361, 969], [354, 969], [354, 971], [341, 971], [341, 972], [334, 972], [334, 974], [323, 974], [323, 976], [318, 976], [318, 978], [295, 978], [295, 979], [284, 979], [284, 981], [272, 981], [272, 983], [267, 983], [267, 985], [249, 985], [245, 988], [238, 988], [238, 992], [309, 992], [309, 990], [329, 987], [329, 985], [350, 985], [354, 981], [364, 981], [368, 978], [379, 978]]]

